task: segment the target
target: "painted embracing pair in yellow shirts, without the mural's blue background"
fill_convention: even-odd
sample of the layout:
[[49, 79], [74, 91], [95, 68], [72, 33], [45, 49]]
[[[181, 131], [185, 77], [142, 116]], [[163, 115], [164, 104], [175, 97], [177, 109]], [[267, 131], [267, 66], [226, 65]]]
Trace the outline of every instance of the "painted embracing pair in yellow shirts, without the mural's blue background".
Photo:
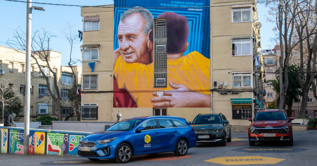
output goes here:
[[[153, 88], [154, 17], [147, 9], [130, 8], [114, 27], [118, 47], [113, 51], [113, 107], [210, 107], [210, 59], [196, 50], [185, 53], [190, 45], [188, 19], [171, 11], [156, 18], [165, 18], [170, 27], [167, 87]], [[119, 98], [135, 104], [122, 104]]]

